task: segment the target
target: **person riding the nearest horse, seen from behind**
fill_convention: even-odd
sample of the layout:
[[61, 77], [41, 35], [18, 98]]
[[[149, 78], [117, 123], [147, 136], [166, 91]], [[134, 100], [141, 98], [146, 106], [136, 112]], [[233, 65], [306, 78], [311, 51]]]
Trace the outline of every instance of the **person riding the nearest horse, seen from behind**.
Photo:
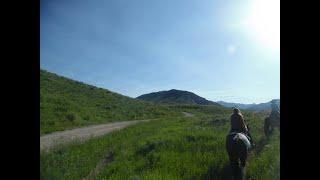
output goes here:
[[246, 134], [249, 137], [250, 143], [254, 146], [252, 136], [247, 128], [247, 125], [245, 124], [243, 115], [238, 108], [233, 108], [230, 132], [240, 132]]

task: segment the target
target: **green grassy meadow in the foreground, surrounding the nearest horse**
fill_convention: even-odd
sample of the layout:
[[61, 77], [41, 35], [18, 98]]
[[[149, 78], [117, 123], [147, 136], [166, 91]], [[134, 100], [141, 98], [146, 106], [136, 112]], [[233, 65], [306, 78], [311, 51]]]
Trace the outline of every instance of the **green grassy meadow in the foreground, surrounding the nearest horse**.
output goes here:
[[[91, 173], [90, 179], [230, 179], [225, 136], [231, 110], [171, 108], [195, 116], [162, 118], [41, 153], [41, 178], [82, 179]], [[265, 115], [244, 112], [257, 143], [249, 156], [247, 177], [279, 179], [280, 135], [264, 138]]]

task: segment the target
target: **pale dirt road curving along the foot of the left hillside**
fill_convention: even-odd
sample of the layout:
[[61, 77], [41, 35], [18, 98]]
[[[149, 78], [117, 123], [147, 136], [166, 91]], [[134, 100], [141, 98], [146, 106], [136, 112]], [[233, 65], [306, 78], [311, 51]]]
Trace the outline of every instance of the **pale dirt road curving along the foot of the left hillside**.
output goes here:
[[48, 150], [57, 144], [68, 143], [75, 139], [86, 140], [90, 137], [101, 136], [115, 130], [123, 129], [129, 125], [146, 121], [150, 120], [122, 121], [54, 132], [40, 136], [40, 150]]

